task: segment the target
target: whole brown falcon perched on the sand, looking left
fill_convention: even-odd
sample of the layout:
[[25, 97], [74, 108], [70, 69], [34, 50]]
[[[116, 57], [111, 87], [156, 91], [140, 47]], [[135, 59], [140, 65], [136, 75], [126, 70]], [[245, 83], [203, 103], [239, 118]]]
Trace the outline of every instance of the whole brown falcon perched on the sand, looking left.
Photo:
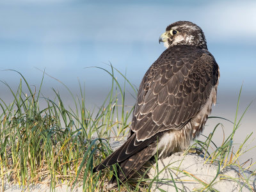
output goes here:
[[186, 150], [216, 103], [220, 72], [202, 29], [174, 22], [160, 42], [167, 49], [141, 81], [127, 141], [93, 169], [118, 164], [118, 179], [113, 176], [109, 188], [131, 178], [156, 153], [164, 158]]

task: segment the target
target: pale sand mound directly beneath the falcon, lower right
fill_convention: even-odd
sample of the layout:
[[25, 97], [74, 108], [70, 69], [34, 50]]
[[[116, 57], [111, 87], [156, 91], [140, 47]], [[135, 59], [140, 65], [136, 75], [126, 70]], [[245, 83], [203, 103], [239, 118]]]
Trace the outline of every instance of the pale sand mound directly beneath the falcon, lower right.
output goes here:
[[[166, 166], [167, 168], [165, 168]], [[154, 175], [157, 175], [156, 164], [154, 164], [154, 167], [155, 168], [151, 168], [150, 170], [150, 179], [153, 179]], [[216, 177], [218, 170], [217, 163], [205, 163], [204, 158], [202, 156], [198, 156], [197, 154], [187, 154], [184, 156], [183, 153], [176, 153], [166, 159], [158, 161], [158, 169], [164, 169], [164, 171], [159, 173], [158, 181], [154, 182], [154, 189], [152, 191], [161, 191], [159, 189], [164, 189], [165, 191], [175, 191], [172, 177], [175, 180], [177, 188], [181, 189], [182, 191], [195, 191], [196, 189], [201, 191], [205, 188], [204, 184], [200, 183], [200, 181], [191, 176], [187, 176], [184, 173], [177, 172], [175, 168], [179, 168], [181, 171], [186, 170], [186, 172], [194, 175], [196, 179], [204, 182], [205, 186], [207, 186], [207, 184], [211, 184], [212, 182], [212, 188], [218, 191], [228, 192], [255, 190], [256, 177], [252, 176], [252, 172], [247, 170], [239, 171], [235, 166], [223, 168], [222, 170], [220, 167], [220, 174], [218, 177]], [[237, 181], [232, 180], [232, 178], [236, 179]], [[248, 179], [248, 183], [252, 189], [248, 187], [245, 179]]]

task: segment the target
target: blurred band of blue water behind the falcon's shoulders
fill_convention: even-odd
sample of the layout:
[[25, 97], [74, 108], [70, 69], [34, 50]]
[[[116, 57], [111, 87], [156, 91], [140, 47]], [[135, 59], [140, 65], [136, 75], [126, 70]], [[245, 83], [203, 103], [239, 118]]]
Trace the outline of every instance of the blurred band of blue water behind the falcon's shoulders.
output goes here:
[[[126, 71], [127, 78], [138, 86], [147, 68], [163, 50], [163, 45], [159, 45], [157, 40], [155, 43], [90, 41], [46, 46], [33, 42], [1, 40], [0, 63], [1, 70], [18, 70], [31, 83], [40, 81], [40, 70], [45, 69], [48, 74], [68, 86], [77, 84], [78, 77], [81, 82], [92, 87], [95, 84], [106, 86], [109, 84], [105, 80], [108, 77], [101, 70], [85, 67], [108, 68], [106, 64], [112, 63], [123, 73]], [[244, 83], [245, 87], [251, 87], [249, 92], [255, 92], [256, 45], [209, 43], [209, 51], [220, 65], [220, 88], [239, 89]], [[20, 77], [13, 72], [0, 73], [1, 80], [8, 83], [19, 81]]]

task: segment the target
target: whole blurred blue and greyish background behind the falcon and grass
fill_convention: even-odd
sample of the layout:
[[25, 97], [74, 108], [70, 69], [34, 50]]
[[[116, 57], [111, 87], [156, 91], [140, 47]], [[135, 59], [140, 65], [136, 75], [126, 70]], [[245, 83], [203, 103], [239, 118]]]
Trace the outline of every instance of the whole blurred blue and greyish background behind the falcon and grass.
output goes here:
[[[104, 63], [111, 62], [138, 87], [165, 49], [158, 44], [159, 35], [177, 20], [195, 22], [204, 30], [209, 51], [220, 65], [218, 104], [212, 115], [234, 120], [242, 83], [240, 115], [254, 100], [241, 125], [243, 140], [256, 128], [256, 1], [2, 0], [0, 70], [18, 70], [29, 84], [38, 86], [40, 70], [45, 69], [75, 94], [78, 78], [86, 84], [86, 102], [100, 104], [111, 79], [101, 70], [85, 67], [106, 68]], [[18, 86], [18, 74], [0, 74], [2, 81]], [[66, 97], [58, 81], [45, 77], [43, 91], [49, 97], [51, 87]], [[4, 84], [0, 84], [0, 97], [11, 98]], [[133, 105], [135, 100], [131, 97], [127, 102]], [[216, 122], [209, 120], [209, 126]], [[212, 129], [205, 130], [207, 134]], [[230, 130], [232, 125], [227, 124], [225, 132]]]

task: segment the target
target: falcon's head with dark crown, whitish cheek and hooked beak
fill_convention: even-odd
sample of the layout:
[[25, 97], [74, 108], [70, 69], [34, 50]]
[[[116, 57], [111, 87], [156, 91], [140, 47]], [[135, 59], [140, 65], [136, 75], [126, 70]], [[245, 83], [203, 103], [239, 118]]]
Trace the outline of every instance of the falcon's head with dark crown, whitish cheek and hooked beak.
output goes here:
[[204, 32], [201, 28], [189, 21], [173, 22], [159, 37], [159, 43], [164, 42], [166, 48], [175, 45], [192, 45], [207, 49]]

